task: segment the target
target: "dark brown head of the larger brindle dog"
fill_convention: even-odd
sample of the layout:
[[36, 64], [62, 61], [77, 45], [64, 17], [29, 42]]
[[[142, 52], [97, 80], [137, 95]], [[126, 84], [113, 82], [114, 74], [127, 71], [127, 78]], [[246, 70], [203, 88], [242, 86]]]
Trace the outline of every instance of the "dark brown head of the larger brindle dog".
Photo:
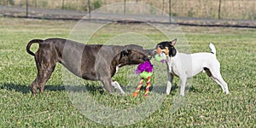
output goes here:
[[135, 65], [149, 61], [148, 56], [134, 49], [125, 49], [119, 53], [119, 67]]

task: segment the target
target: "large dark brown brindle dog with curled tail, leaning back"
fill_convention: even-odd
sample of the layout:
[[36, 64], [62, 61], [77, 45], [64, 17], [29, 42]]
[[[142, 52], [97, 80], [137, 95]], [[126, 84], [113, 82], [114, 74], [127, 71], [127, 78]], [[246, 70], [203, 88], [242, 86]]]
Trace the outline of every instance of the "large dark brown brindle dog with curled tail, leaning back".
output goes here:
[[[39, 44], [35, 54], [30, 50], [34, 43]], [[112, 86], [125, 93], [117, 82], [112, 81], [114, 73], [119, 67], [148, 61], [148, 55], [153, 54], [152, 49], [134, 44], [79, 44], [62, 38], [33, 39], [26, 45], [26, 51], [35, 56], [38, 68], [38, 76], [31, 84], [34, 95], [37, 90], [44, 91], [44, 84], [54, 72], [57, 62], [82, 79], [100, 80], [109, 93], [113, 93]]]

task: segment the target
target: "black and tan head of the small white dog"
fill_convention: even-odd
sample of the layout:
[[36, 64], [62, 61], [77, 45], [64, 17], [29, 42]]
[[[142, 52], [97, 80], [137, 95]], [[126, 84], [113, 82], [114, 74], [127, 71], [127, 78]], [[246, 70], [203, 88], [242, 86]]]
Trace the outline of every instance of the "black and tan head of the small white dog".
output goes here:
[[174, 45], [176, 44], [176, 42], [177, 42], [177, 39], [174, 39], [172, 41], [160, 42], [155, 47], [157, 54], [165, 53], [170, 57], [175, 56], [177, 53], [177, 50], [174, 48]]

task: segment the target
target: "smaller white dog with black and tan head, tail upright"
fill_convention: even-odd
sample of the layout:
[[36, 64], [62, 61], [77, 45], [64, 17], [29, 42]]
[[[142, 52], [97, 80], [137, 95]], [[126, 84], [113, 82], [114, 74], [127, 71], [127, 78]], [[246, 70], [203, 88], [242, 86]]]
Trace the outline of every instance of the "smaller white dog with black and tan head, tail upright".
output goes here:
[[202, 71], [207, 72], [207, 75], [218, 83], [226, 94], [229, 94], [228, 84], [220, 74], [220, 64], [216, 58], [216, 49], [213, 44], [209, 44], [212, 53], [195, 53], [189, 55], [177, 52], [174, 48], [176, 42], [177, 39], [174, 39], [172, 41], [161, 42], [156, 46], [157, 51], [166, 54], [166, 65], [168, 69], [167, 95], [170, 94], [172, 88], [173, 75], [180, 78], [180, 95], [184, 96], [187, 79], [192, 78]]

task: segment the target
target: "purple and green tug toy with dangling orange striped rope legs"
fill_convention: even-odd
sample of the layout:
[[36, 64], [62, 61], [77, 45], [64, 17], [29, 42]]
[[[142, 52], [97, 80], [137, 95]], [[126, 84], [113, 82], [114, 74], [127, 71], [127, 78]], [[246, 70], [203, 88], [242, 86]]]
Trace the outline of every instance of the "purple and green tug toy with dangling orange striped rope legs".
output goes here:
[[146, 90], [145, 90], [145, 96], [148, 96], [148, 91], [149, 91], [149, 87], [150, 87], [150, 78], [153, 74], [153, 65], [150, 63], [150, 61], [145, 61], [143, 63], [141, 63], [140, 65], [138, 65], [135, 73], [139, 74], [141, 79], [140, 82], [137, 86], [137, 90], [135, 92], [132, 93], [132, 96], [135, 97], [138, 95], [139, 91], [141, 90], [141, 87], [143, 86], [143, 81], [147, 80], [147, 86], [146, 86]]

